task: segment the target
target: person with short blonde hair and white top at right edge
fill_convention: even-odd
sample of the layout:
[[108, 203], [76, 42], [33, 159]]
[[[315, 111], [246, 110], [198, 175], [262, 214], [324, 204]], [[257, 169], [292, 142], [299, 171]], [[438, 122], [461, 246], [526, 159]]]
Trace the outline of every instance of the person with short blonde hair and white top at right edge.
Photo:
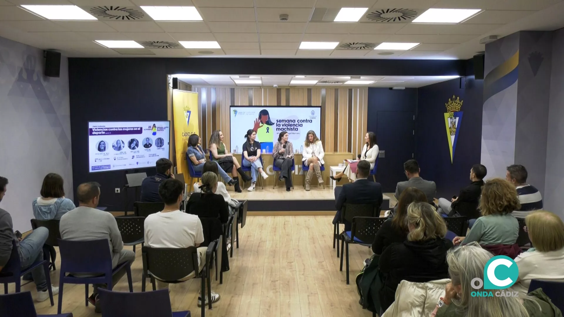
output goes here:
[[519, 278], [513, 285], [525, 295], [532, 279], [564, 281], [564, 223], [556, 214], [540, 210], [525, 218], [533, 248], [515, 258]]

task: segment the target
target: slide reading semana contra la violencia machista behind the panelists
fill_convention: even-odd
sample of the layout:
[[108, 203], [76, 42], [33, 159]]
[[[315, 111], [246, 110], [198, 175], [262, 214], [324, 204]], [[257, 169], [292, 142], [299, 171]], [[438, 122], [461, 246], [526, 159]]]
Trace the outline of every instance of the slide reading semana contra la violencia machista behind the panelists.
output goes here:
[[321, 136], [321, 107], [280, 106], [231, 106], [231, 151], [242, 151], [245, 134], [249, 129], [257, 131], [257, 141], [266, 153], [278, 141], [282, 131], [288, 132], [288, 140], [294, 150], [301, 153], [307, 131]]

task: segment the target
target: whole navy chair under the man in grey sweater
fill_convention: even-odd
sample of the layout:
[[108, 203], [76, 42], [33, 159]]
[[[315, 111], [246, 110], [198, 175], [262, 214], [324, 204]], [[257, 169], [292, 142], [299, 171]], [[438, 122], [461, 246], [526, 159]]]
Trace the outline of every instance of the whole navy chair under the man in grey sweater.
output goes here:
[[[109, 250], [108, 239], [90, 241], [70, 241], [59, 239], [59, 252], [61, 254], [61, 269], [59, 277], [59, 307], [61, 313], [63, 306], [63, 285], [85, 284], [85, 301], [88, 306], [88, 284], [107, 284], [112, 290], [112, 276], [121, 269], [127, 272], [129, 291], [133, 292], [131, 283], [131, 266], [129, 262], [122, 263], [112, 269], [112, 254]], [[77, 278], [71, 272], [99, 274], [92, 278]], [[66, 274], [69, 275], [66, 275]]]

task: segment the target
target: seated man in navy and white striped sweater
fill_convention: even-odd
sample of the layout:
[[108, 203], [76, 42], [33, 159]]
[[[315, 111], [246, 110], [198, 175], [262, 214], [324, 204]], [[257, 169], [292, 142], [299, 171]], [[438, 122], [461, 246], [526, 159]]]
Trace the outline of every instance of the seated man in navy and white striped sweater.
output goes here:
[[527, 169], [523, 165], [511, 165], [507, 167], [505, 179], [517, 188], [521, 208], [513, 212], [513, 217], [525, 218], [531, 210], [543, 209], [543, 196], [536, 187], [527, 184]]

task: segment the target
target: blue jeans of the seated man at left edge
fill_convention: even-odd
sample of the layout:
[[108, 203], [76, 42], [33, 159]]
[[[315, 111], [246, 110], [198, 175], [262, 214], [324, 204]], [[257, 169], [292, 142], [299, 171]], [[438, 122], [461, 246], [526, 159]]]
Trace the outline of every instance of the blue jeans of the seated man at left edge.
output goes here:
[[[47, 241], [49, 229], [39, 227], [33, 230], [31, 234], [20, 241], [20, 263], [21, 269], [25, 270], [37, 261], [43, 261], [43, 244]], [[33, 281], [36, 283], [37, 291], [47, 289], [47, 280], [45, 279], [45, 268], [38, 266], [32, 271]]]

